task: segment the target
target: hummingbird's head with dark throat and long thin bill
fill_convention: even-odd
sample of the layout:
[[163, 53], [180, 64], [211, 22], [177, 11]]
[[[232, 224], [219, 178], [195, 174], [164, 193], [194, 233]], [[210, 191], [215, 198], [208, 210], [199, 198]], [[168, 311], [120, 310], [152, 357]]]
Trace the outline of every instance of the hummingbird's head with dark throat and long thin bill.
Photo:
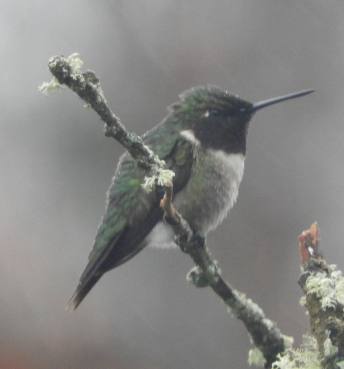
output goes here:
[[257, 110], [280, 101], [299, 97], [304, 90], [252, 104], [215, 86], [194, 87], [169, 107], [166, 121], [193, 144], [228, 154], [246, 153], [249, 121]]

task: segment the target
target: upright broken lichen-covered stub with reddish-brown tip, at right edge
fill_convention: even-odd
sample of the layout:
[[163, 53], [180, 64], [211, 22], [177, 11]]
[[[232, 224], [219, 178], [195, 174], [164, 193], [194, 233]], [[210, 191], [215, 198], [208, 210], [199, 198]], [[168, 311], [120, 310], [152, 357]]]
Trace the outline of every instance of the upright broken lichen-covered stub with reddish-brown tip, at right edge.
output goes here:
[[344, 368], [344, 278], [335, 265], [327, 265], [319, 249], [316, 223], [299, 237], [305, 297], [312, 333], [324, 369]]

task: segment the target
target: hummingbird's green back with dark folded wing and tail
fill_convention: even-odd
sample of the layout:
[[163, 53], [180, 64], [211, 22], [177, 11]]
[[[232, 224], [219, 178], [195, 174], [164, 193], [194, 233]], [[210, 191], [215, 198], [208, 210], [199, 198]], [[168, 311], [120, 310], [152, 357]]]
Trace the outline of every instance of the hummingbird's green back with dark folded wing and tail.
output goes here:
[[[143, 140], [166, 168], [175, 172], [174, 193], [189, 179], [192, 165], [192, 145], [163, 124], [144, 135]], [[163, 144], [162, 144], [163, 142]], [[69, 301], [73, 310], [106, 271], [136, 255], [145, 245], [144, 238], [162, 219], [159, 207], [162, 193], [147, 193], [141, 184], [147, 172], [139, 168], [128, 154], [122, 155], [108, 190], [105, 215], [98, 228], [94, 246], [80, 282]]]

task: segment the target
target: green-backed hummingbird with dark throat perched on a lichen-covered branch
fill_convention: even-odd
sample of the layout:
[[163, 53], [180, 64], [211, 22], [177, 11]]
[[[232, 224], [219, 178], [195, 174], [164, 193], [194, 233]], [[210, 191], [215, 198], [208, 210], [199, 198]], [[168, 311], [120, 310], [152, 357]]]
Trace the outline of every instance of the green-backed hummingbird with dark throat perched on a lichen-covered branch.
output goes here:
[[[215, 86], [193, 87], [142, 137], [175, 173], [173, 206], [194, 234], [205, 238], [236, 202], [243, 177], [249, 122], [257, 110], [313, 92], [308, 89], [250, 103]], [[88, 262], [68, 306], [74, 311], [101, 276], [147, 245], [175, 245], [159, 206], [162, 190], [141, 184], [147, 170], [124, 153], [107, 192]]]

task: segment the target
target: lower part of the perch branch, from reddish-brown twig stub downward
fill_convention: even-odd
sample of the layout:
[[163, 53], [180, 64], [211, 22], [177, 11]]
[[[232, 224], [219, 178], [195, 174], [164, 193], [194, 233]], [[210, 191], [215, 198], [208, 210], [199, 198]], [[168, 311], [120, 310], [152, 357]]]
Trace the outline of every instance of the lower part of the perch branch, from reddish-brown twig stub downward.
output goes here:
[[[167, 196], [166, 193], [168, 193]], [[214, 290], [228, 306], [229, 311], [243, 322], [255, 346], [265, 359], [265, 367], [270, 368], [277, 355], [287, 346], [276, 323], [266, 318], [263, 310], [245, 294], [236, 291], [222, 279], [221, 269], [217, 261], [211, 259], [205, 240], [193, 234], [187, 222], [174, 209], [171, 199], [172, 183], [165, 192], [161, 207], [165, 212], [166, 221], [171, 224], [175, 232], [176, 242], [196, 264], [187, 279], [196, 287], [210, 286]]]

